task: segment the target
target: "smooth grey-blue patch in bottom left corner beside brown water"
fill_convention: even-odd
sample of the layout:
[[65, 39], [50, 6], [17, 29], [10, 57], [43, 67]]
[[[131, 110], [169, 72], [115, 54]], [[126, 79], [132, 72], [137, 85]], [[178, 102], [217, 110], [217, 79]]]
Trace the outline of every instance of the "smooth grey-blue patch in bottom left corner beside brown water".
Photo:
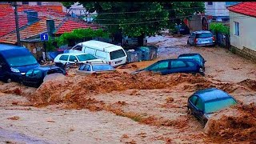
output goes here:
[[[0, 140], [6, 140], [6, 142], [18, 142], [18, 143], [26, 143], [26, 144], [32, 144], [32, 143], [37, 143], [37, 144], [45, 144], [45, 143], [50, 143], [46, 142], [37, 138], [32, 138], [29, 136], [26, 136], [25, 134], [20, 134], [15, 131], [10, 131], [10, 130], [4, 130], [0, 128]], [[1, 142], [1, 141], [0, 141]]]

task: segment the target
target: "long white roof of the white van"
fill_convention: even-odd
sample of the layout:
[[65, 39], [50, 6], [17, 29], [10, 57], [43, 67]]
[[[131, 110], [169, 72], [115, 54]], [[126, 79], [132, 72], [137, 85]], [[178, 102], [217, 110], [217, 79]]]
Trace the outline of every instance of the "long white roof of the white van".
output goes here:
[[106, 52], [111, 52], [111, 51], [122, 49], [122, 46], [117, 46], [117, 45], [113, 45], [111, 43], [100, 42], [100, 41], [96, 41], [96, 40], [81, 42], [78, 45], [88, 46], [88, 47], [94, 48], [96, 50], [103, 50]]

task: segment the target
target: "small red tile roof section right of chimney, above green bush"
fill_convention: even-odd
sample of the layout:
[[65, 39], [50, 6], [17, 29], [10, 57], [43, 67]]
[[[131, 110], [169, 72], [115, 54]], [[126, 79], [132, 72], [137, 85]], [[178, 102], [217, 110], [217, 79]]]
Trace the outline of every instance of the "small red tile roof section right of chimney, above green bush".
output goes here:
[[65, 32], [71, 32], [74, 29], [98, 29], [97, 25], [94, 24], [88, 24], [86, 22], [74, 22], [74, 21], [66, 21], [63, 23], [61, 27], [58, 28], [58, 30], [55, 32], [55, 34], [64, 34]]

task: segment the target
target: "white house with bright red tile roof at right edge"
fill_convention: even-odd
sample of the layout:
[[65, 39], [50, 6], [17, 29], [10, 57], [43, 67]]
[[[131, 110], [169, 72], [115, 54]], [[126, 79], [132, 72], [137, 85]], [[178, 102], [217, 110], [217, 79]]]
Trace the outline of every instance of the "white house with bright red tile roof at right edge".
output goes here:
[[256, 62], [256, 2], [242, 2], [229, 10], [232, 50]]

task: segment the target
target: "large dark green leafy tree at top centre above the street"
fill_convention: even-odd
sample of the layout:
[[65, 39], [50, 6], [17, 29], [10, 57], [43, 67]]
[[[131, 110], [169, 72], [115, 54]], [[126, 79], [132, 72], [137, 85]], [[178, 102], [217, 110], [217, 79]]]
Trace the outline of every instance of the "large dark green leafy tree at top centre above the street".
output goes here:
[[161, 30], [173, 27], [177, 17], [180, 17], [180, 20], [204, 10], [204, 2], [79, 3], [90, 13], [96, 11], [97, 17], [94, 22], [106, 26], [110, 34], [121, 32], [130, 37], [138, 37], [138, 45], [142, 45], [146, 35], [160, 34]]

